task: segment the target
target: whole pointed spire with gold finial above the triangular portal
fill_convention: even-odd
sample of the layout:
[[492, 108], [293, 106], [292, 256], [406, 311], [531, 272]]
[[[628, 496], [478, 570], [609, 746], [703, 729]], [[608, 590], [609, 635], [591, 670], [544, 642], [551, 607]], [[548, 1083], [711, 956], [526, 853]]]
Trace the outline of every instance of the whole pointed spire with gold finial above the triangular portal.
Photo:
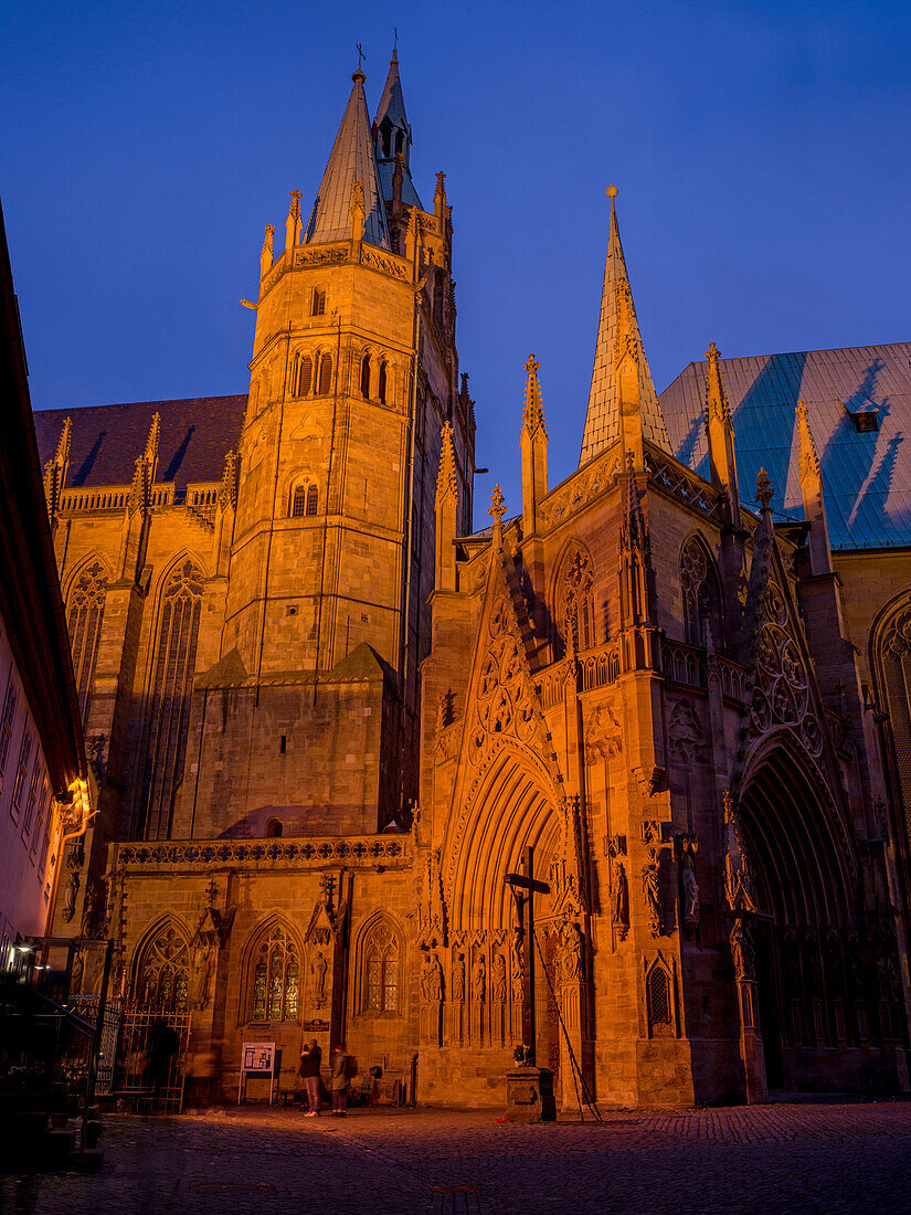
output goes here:
[[[670, 452], [670, 440], [643, 350], [629, 289], [615, 207], [615, 185], [607, 188], [607, 197], [611, 200], [610, 237], [579, 467], [623, 437], [624, 429], [627, 450], [630, 446], [634, 450], [641, 447], [641, 439], [646, 439]], [[622, 419], [626, 419], [623, 425]], [[636, 467], [639, 465], [640, 459], [636, 458]]]

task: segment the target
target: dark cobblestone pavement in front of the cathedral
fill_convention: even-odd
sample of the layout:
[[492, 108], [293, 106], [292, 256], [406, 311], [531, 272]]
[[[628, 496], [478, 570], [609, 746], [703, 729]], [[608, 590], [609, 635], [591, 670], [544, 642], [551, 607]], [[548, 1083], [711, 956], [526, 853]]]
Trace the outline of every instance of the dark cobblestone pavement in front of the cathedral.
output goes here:
[[[343, 1121], [245, 1107], [111, 1115], [103, 1146], [96, 1176], [0, 1180], [4, 1215], [911, 1211], [907, 1102], [630, 1111], [539, 1126], [476, 1111], [352, 1111]], [[476, 1194], [432, 1189], [457, 1186]]]

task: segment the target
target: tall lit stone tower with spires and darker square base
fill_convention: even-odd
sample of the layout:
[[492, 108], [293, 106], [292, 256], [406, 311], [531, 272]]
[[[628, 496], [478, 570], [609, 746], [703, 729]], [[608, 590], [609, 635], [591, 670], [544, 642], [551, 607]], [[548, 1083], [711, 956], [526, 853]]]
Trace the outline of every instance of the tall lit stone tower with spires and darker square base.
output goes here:
[[278, 256], [266, 228], [220, 660], [196, 682], [172, 835], [373, 831], [417, 791], [440, 436], [464, 521], [474, 414], [443, 174], [425, 211], [397, 57], [373, 124], [363, 85], [306, 226], [295, 190]]

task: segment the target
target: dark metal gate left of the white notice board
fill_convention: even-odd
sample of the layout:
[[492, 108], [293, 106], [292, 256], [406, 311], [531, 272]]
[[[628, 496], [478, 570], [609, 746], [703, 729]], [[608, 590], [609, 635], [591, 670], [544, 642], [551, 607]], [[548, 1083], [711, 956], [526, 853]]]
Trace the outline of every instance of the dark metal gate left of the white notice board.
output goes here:
[[[174, 1030], [177, 1049], [164, 1061], [157, 1074], [153, 1045], [159, 1027]], [[188, 1041], [188, 1012], [162, 1013], [140, 1005], [126, 1005], [120, 1018], [120, 1049], [114, 1087], [117, 1095], [128, 1101], [132, 1100], [136, 1108], [148, 1102], [149, 1107], [180, 1113], [183, 1108]]]

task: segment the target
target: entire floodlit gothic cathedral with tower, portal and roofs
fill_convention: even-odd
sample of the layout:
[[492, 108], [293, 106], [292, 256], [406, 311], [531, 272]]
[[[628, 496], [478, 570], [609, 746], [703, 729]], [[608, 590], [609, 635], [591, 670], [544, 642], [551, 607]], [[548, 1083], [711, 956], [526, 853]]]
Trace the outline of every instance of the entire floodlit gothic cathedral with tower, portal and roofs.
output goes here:
[[911, 346], [711, 345], [660, 397], [611, 187], [578, 469], [531, 356], [475, 532], [411, 152], [394, 55], [266, 227], [247, 395], [35, 416], [98, 782], [55, 934], [223, 1100], [312, 1036], [502, 1107], [531, 1002], [567, 1111], [906, 1091]]

